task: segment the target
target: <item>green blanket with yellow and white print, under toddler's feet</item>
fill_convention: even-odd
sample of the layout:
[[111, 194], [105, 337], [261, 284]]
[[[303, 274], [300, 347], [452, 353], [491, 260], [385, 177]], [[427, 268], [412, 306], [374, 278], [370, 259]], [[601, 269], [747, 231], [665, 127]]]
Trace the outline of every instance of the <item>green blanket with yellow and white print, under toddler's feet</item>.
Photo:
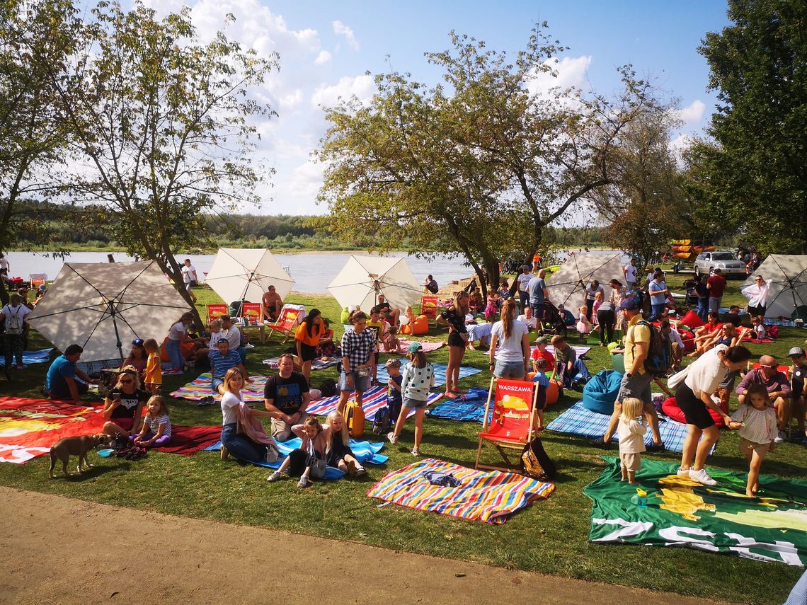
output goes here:
[[[593, 501], [591, 542], [683, 546], [756, 561], [807, 565], [807, 482], [759, 476], [759, 498], [746, 497], [746, 474], [709, 469], [702, 486], [678, 477], [677, 463], [642, 460], [639, 486], [620, 482], [619, 459], [583, 488]], [[631, 502], [646, 491], [646, 507]]]

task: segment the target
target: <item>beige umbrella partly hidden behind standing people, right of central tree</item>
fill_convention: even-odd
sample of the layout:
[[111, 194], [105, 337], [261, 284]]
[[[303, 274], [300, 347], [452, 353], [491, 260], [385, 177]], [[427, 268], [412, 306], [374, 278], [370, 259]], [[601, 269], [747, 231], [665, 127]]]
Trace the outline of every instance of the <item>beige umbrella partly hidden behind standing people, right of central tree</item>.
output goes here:
[[561, 268], [552, 273], [552, 277], [546, 282], [551, 303], [555, 307], [562, 304], [576, 317], [577, 310], [586, 303], [586, 286], [589, 282], [596, 279], [604, 288], [612, 279], [625, 284], [621, 258], [621, 254], [572, 252]]

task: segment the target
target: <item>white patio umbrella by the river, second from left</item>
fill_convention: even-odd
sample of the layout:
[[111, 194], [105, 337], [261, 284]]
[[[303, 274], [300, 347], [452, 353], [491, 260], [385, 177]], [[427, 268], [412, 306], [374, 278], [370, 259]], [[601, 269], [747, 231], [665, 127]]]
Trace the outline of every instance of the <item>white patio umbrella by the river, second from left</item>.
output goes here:
[[295, 283], [265, 248], [219, 248], [205, 282], [228, 304], [259, 303], [269, 286], [286, 298]]

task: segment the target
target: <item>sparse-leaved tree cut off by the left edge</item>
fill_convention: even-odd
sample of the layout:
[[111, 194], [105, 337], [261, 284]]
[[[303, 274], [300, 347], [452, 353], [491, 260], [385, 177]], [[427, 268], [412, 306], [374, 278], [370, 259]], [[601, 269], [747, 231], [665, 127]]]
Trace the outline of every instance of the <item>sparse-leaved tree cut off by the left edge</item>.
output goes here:
[[33, 203], [61, 185], [69, 131], [52, 73], [73, 52], [70, 2], [0, 0], [0, 250], [52, 248], [55, 207]]

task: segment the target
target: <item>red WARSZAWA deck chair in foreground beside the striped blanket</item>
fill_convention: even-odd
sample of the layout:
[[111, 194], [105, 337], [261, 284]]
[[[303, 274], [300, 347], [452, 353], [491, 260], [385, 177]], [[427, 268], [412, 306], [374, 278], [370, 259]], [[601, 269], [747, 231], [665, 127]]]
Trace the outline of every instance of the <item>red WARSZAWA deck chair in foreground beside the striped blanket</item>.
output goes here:
[[[487, 391], [485, 418], [479, 432], [479, 447], [476, 449], [475, 469], [492, 469], [512, 472], [513, 465], [508, 458], [508, 449], [516, 449], [521, 456], [524, 446], [535, 436], [535, 403], [538, 390], [534, 382], [491, 378]], [[490, 418], [491, 399], [493, 416]], [[488, 419], [490, 422], [488, 423]], [[480, 465], [483, 444], [491, 444], [497, 449], [508, 466]]]

